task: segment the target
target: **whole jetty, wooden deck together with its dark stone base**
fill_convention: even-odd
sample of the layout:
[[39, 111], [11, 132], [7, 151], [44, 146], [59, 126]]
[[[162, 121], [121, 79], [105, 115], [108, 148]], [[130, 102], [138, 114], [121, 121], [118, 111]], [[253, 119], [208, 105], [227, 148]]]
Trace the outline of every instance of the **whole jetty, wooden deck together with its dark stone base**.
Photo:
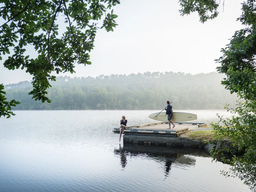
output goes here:
[[[144, 145], [165, 145], [181, 147], [202, 148], [206, 144], [202, 141], [192, 141], [180, 137], [180, 134], [189, 130], [205, 127], [205, 123], [175, 122], [173, 129], [167, 129], [168, 122], [156, 122], [151, 124], [135, 125], [124, 130], [124, 143]], [[114, 128], [114, 133], [120, 133], [120, 128]]]

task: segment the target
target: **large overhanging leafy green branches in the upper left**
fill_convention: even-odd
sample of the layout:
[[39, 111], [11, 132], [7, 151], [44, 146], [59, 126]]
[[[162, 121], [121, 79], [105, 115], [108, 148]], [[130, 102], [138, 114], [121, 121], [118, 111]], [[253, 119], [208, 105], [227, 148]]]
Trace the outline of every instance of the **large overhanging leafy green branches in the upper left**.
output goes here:
[[[55, 81], [52, 71], [74, 72], [74, 64], [91, 64], [98, 28], [113, 31], [117, 25], [111, 8], [119, 0], [0, 0], [0, 60], [9, 54], [4, 66], [9, 70], [26, 69], [33, 76], [35, 100], [50, 102], [46, 90]], [[111, 11], [110, 11], [111, 10]], [[56, 20], [64, 16], [60, 29]], [[102, 25], [97, 21], [103, 20]], [[61, 18], [60, 18], [61, 20]], [[96, 22], [95, 22], [96, 21]], [[38, 53], [30, 58], [26, 47]], [[10, 50], [13, 51], [10, 51]]]

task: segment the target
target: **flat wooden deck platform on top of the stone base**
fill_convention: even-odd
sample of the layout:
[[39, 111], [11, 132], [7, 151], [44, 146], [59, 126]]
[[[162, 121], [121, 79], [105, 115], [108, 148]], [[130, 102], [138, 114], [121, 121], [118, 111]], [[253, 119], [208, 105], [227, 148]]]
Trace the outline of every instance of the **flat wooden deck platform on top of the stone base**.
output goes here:
[[[175, 127], [168, 129], [168, 122], [156, 122], [143, 125], [135, 125], [127, 127], [123, 134], [126, 135], [140, 135], [140, 136], [163, 136], [163, 137], [178, 137], [180, 134], [193, 130], [198, 127], [207, 126], [205, 123], [189, 123], [176, 122]], [[172, 125], [171, 125], [172, 127]], [[114, 128], [114, 133], [120, 133], [120, 128]]]

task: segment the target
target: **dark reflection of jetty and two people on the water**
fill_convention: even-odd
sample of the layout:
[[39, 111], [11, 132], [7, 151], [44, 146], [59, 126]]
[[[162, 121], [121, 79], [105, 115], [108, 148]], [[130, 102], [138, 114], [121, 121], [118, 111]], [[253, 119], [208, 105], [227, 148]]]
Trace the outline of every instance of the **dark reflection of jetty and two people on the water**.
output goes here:
[[114, 149], [114, 154], [120, 156], [122, 168], [127, 165], [126, 157], [150, 158], [156, 162], [164, 163], [164, 173], [168, 176], [171, 167], [186, 168], [195, 166], [196, 157], [210, 157], [204, 149], [196, 148], [169, 148], [165, 146], [143, 146], [124, 143], [124, 147]]

